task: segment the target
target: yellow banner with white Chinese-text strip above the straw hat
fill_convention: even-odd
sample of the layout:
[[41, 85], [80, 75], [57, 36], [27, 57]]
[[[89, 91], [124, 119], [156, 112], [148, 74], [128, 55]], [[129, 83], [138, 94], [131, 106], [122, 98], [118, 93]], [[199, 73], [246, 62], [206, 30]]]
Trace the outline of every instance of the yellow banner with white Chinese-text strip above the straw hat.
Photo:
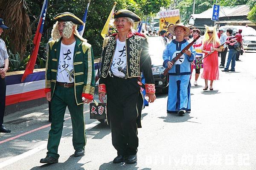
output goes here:
[[180, 11], [174, 9], [170, 11], [160, 11], [159, 25], [160, 30], [168, 30], [169, 25], [175, 25], [180, 23]]

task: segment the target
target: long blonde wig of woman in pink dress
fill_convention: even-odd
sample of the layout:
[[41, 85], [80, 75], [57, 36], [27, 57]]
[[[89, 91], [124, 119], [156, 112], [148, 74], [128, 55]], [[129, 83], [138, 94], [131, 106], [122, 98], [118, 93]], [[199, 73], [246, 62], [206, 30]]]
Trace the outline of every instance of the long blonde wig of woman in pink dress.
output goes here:
[[[211, 26], [207, 26], [207, 25], [204, 25], [205, 28], [206, 28], [206, 31], [205, 31], [205, 34], [204, 34], [204, 40], [203, 40], [203, 43], [207, 43], [209, 44], [209, 42], [212, 41], [212, 44], [214, 45], [214, 47], [218, 47], [218, 45], [220, 45], [220, 40], [218, 38], [218, 34], [217, 34], [217, 31], [216, 31], [216, 25], [211, 27]], [[208, 35], [208, 31], [213, 31], [213, 34], [212, 34], [212, 37], [210, 38], [209, 35]]]

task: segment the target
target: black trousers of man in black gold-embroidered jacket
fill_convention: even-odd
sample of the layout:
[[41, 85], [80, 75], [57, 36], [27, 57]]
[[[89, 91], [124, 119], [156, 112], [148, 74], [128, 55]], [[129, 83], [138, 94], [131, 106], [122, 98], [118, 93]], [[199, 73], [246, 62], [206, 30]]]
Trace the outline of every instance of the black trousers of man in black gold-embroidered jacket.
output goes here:
[[112, 144], [117, 155], [135, 155], [139, 145], [137, 103], [140, 87], [136, 78], [107, 78], [107, 115], [111, 124]]

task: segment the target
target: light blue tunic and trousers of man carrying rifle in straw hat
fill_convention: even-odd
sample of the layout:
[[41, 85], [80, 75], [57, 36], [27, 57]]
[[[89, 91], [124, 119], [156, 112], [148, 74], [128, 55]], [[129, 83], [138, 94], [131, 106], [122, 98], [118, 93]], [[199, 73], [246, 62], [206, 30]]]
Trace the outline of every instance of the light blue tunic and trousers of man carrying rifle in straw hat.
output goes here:
[[[189, 42], [183, 40], [177, 42], [172, 40], [166, 45], [163, 51], [163, 66], [167, 67], [167, 62], [188, 45]], [[177, 113], [177, 111], [190, 111], [190, 74], [191, 62], [195, 58], [195, 49], [191, 46], [191, 56], [183, 54], [169, 71], [169, 93], [167, 102], [167, 112]]]

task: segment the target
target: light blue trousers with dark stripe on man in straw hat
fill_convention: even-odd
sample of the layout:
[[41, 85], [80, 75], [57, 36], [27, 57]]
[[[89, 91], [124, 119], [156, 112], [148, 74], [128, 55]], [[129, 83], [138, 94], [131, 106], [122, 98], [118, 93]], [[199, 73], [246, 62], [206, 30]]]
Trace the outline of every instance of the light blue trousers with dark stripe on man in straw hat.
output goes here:
[[190, 74], [169, 76], [169, 93], [167, 112], [191, 111], [190, 107]]

